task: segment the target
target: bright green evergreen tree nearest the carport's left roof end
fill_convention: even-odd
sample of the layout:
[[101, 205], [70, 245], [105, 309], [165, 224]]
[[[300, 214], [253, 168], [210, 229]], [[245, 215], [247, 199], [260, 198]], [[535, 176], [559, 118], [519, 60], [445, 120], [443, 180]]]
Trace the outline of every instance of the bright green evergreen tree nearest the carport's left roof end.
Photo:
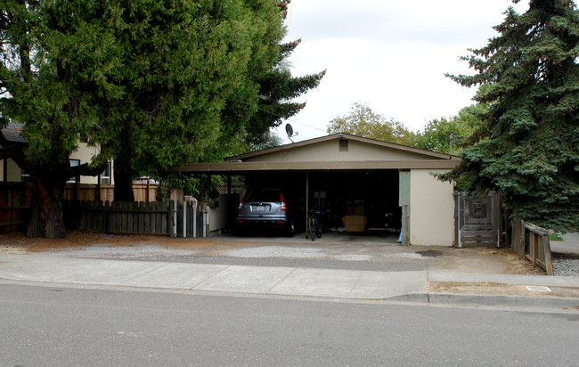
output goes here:
[[111, 136], [115, 200], [134, 200], [139, 175], [221, 159], [243, 139], [253, 112], [231, 102], [257, 101], [252, 76], [271, 68], [278, 54], [281, 12], [274, 0], [178, 3], [142, 2], [118, 17], [126, 113]]

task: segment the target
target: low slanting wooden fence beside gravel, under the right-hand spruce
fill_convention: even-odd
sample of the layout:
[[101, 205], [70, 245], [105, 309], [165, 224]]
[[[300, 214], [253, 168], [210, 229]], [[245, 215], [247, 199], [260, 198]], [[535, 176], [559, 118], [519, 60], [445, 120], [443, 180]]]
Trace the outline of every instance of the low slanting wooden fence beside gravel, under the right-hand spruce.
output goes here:
[[539, 265], [553, 274], [553, 263], [550, 253], [549, 232], [521, 221], [512, 221], [511, 249], [520, 257], [526, 257], [533, 265]]

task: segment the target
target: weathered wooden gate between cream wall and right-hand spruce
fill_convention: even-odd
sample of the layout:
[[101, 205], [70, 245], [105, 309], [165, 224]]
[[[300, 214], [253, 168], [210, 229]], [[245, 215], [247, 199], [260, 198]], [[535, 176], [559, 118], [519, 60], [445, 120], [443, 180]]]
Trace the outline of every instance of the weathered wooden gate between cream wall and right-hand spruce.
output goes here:
[[454, 247], [501, 247], [502, 202], [490, 192], [483, 200], [467, 200], [467, 192], [454, 192]]

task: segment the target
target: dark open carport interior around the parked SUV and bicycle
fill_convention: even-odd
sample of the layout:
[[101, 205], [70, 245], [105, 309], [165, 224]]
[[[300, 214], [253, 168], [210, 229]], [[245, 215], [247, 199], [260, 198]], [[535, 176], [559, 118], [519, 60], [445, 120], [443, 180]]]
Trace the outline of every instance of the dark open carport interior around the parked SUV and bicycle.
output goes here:
[[304, 232], [306, 208], [322, 208], [329, 232], [397, 233], [401, 227], [399, 179], [394, 169], [375, 172], [259, 172], [245, 175], [246, 189], [284, 192], [296, 231]]

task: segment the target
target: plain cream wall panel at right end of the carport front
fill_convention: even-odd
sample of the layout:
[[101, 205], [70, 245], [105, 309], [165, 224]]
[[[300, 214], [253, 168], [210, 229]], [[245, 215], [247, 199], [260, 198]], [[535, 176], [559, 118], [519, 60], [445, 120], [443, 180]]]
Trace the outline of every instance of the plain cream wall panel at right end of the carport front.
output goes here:
[[[410, 243], [453, 246], [453, 184], [443, 183], [428, 169], [412, 169], [410, 177]], [[445, 171], [441, 171], [445, 172]]]

